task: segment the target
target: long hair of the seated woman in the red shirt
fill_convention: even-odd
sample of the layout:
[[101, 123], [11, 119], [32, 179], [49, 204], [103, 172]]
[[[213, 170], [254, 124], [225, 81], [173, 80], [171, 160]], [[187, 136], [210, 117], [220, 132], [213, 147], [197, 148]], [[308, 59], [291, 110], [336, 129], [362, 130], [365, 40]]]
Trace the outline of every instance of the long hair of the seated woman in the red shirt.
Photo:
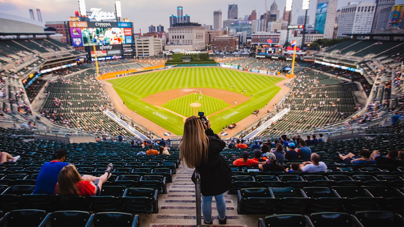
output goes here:
[[58, 187], [56, 193], [59, 195], [79, 195], [77, 183], [84, 181], [77, 172], [76, 167], [67, 165], [59, 172]]

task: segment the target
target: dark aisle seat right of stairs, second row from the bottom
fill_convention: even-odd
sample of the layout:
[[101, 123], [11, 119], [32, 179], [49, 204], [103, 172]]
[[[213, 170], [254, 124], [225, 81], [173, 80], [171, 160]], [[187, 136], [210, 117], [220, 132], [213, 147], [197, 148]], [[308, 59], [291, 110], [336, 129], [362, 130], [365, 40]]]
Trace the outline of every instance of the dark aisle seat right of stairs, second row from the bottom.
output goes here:
[[269, 189], [247, 188], [238, 190], [238, 214], [271, 214], [274, 212], [275, 198]]

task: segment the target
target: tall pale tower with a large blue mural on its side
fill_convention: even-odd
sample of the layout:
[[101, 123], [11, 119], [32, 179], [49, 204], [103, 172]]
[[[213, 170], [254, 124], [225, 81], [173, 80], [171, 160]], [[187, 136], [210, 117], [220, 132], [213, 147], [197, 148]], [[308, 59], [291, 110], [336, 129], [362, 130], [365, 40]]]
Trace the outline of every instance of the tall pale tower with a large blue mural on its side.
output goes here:
[[332, 39], [338, 0], [318, 0], [314, 30], [324, 34], [324, 38]]

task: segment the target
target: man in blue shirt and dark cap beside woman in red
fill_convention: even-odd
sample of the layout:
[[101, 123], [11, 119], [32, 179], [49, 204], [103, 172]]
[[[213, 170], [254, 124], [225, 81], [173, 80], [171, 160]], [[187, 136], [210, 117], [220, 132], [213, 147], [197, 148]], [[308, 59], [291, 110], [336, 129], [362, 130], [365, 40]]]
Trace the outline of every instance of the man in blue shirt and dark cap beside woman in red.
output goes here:
[[59, 178], [59, 172], [69, 163], [66, 160], [66, 151], [60, 149], [53, 153], [53, 159], [50, 162], [42, 164], [38, 177], [35, 181], [35, 189], [32, 194], [55, 194], [55, 186]]

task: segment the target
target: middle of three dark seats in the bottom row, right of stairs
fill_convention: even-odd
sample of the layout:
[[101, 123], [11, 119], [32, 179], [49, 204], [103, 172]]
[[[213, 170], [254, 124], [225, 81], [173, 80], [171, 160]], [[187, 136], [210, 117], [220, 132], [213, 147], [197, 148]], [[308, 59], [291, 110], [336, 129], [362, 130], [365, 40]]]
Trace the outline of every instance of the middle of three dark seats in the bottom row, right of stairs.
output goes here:
[[362, 226], [356, 216], [347, 213], [320, 212], [310, 214], [310, 220], [315, 227], [352, 227]]

